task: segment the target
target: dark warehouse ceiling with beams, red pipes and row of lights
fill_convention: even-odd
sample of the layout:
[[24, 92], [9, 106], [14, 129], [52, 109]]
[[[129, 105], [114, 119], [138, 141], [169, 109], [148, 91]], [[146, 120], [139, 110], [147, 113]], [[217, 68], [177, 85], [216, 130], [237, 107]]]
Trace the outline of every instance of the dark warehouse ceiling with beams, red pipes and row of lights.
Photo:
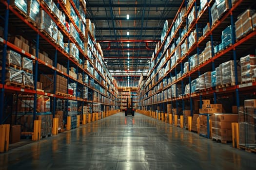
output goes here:
[[181, 2], [86, 0], [86, 17], [96, 26], [96, 40], [118, 86], [138, 86], [140, 75], [147, 74], [163, 24], [172, 21]]

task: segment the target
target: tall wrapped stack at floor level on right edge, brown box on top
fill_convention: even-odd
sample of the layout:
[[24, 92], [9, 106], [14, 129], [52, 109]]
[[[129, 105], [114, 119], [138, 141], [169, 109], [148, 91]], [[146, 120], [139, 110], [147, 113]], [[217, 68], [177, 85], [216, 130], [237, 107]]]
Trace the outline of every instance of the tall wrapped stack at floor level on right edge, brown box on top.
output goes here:
[[239, 145], [256, 149], [256, 99], [245, 100], [238, 116]]

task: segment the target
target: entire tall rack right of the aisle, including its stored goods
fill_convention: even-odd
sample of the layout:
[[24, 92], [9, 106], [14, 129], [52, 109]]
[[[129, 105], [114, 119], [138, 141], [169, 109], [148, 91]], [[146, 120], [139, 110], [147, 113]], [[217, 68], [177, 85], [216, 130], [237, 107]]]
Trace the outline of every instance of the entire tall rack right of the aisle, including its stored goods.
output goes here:
[[237, 120], [238, 112], [249, 114], [244, 101], [256, 99], [256, 14], [250, 9], [256, 9], [253, 0], [183, 0], [141, 76], [142, 113], [175, 119], [185, 112], [195, 124], [199, 113], [236, 113], [234, 122], [254, 126], [239, 115]]

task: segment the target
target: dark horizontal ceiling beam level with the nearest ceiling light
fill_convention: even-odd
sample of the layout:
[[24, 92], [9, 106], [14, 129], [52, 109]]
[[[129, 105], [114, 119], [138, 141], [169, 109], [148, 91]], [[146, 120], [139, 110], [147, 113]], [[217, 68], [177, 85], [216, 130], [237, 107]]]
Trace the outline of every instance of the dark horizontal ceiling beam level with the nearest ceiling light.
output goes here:
[[[111, 20], [112, 17], [88, 17], [91, 20]], [[174, 17], [147, 17], [145, 20], [166, 20], [166, 19], [174, 19]], [[114, 17], [114, 20], [127, 20], [127, 21], [133, 21], [133, 20], [141, 20], [140, 17], [130, 17], [127, 19], [126, 17]]]

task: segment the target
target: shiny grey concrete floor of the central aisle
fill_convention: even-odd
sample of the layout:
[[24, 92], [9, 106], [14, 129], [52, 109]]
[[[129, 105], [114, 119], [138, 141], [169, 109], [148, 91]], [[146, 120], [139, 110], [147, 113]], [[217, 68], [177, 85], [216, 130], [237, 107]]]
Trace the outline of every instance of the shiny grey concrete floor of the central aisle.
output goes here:
[[0, 154], [0, 170], [255, 170], [256, 154], [118, 113]]

